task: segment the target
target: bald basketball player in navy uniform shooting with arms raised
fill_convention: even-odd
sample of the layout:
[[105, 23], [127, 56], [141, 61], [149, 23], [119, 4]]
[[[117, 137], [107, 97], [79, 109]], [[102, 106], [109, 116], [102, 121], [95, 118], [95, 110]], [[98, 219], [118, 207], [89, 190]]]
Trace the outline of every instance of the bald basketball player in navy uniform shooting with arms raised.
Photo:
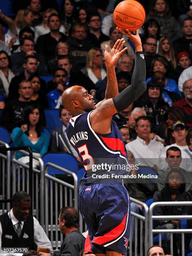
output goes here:
[[[131, 86], [118, 94], [115, 75], [115, 64], [126, 51], [125, 40], [118, 39], [113, 49], [108, 52], [105, 46], [105, 64], [108, 84], [105, 99], [95, 105], [93, 97], [81, 86], [73, 86], [64, 91], [62, 103], [72, 113], [67, 126], [67, 137], [79, 154], [84, 165], [84, 187], [79, 192], [79, 210], [87, 224], [89, 234], [85, 241], [84, 253], [95, 253], [96, 256], [126, 255], [131, 210], [127, 190], [123, 186], [122, 170], [113, 170], [117, 177], [113, 178], [110, 169], [98, 168], [98, 173], [108, 177], [93, 179], [93, 164], [102, 161], [128, 164], [127, 153], [118, 127], [112, 120], [115, 113], [127, 108], [146, 90], [146, 67], [142, 51], [141, 39], [128, 30], [123, 31], [136, 49], [135, 67]], [[102, 159], [102, 160], [101, 160]], [[109, 160], [110, 159], [110, 160]], [[122, 166], [122, 165], [121, 165]], [[95, 176], [97, 171], [94, 173]], [[94, 180], [94, 181], [93, 181]]]

